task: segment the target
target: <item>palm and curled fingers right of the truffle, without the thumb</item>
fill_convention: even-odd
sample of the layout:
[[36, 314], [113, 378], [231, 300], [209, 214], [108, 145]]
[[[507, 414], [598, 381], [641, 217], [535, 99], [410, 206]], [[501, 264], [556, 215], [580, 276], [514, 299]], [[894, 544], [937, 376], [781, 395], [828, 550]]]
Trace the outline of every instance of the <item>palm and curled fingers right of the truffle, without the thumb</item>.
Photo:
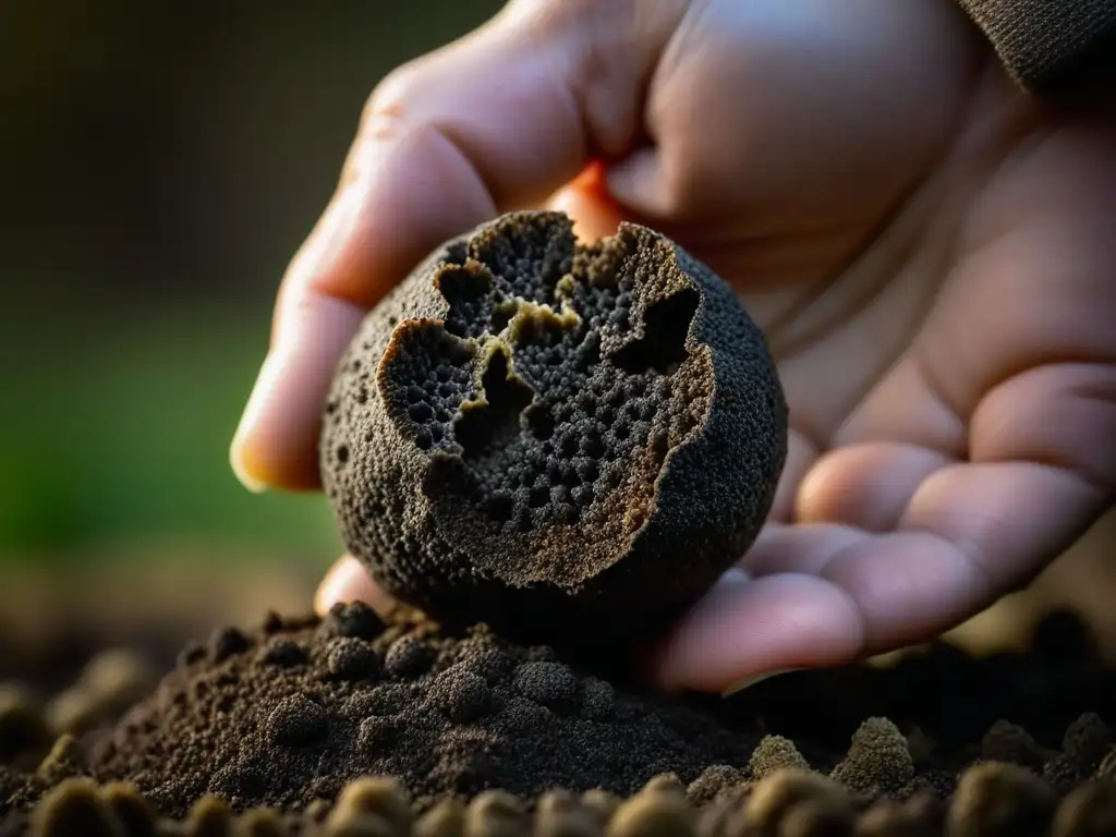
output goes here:
[[812, 264], [757, 271], [780, 263], [762, 237], [727, 247], [719, 230], [703, 252], [708, 232], [675, 233], [768, 334], [791, 432], [768, 526], [664, 643], [664, 684], [724, 689], [929, 638], [1112, 502], [1116, 132], [1040, 115], [998, 77], [973, 98], [917, 187], [845, 249], [770, 237]]

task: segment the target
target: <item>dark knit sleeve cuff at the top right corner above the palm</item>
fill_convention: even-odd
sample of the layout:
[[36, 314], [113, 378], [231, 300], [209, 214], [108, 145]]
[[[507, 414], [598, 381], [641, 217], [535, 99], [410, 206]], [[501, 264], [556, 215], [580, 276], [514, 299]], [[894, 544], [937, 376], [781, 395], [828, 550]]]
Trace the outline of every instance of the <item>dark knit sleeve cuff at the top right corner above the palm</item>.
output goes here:
[[958, 0], [1036, 94], [1116, 81], [1116, 0]]

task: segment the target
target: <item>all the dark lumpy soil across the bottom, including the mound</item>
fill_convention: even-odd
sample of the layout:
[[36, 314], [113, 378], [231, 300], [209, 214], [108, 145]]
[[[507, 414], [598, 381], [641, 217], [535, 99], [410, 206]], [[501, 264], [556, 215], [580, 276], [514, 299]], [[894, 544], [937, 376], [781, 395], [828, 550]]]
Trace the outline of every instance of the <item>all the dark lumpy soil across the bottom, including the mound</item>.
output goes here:
[[1060, 837], [1116, 818], [1116, 672], [1070, 614], [1027, 654], [936, 644], [729, 700], [363, 606], [217, 631], [153, 689], [141, 660], [95, 660], [68, 691], [100, 725], [52, 747], [45, 704], [7, 686], [0, 835]]

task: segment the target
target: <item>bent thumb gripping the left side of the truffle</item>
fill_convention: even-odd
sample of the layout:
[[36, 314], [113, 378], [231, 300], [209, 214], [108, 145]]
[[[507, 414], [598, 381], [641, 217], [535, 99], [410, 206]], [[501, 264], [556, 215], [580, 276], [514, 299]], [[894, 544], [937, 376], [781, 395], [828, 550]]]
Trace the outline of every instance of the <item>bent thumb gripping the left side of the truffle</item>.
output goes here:
[[676, 20], [648, 6], [513, 1], [376, 88], [337, 193], [279, 291], [230, 452], [246, 485], [318, 487], [336, 364], [413, 264], [499, 212], [541, 202], [591, 155], [626, 152], [643, 79]]

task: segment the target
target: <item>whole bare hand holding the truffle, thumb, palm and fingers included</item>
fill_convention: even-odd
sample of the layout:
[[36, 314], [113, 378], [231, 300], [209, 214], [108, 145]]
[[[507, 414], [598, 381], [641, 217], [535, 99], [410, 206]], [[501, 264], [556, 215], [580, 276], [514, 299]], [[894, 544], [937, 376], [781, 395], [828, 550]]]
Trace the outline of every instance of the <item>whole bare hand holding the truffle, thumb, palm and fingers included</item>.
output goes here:
[[[1109, 97], [1112, 98], [1112, 97]], [[651, 224], [740, 291], [790, 405], [775, 508], [652, 648], [721, 691], [924, 641], [1116, 497], [1116, 115], [1023, 94], [950, 0], [513, 0], [374, 92], [232, 445], [318, 488], [364, 312], [509, 209]], [[605, 158], [604, 184], [577, 179]], [[389, 606], [345, 557], [316, 605]]]

